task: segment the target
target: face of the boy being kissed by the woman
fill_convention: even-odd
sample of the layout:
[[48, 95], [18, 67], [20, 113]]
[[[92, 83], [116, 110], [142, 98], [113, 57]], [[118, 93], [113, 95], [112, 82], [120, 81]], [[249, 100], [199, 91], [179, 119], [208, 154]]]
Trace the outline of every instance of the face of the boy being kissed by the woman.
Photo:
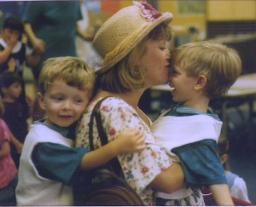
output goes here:
[[187, 72], [181, 67], [174, 65], [172, 67], [169, 85], [172, 90], [172, 99], [175, 102], [188, 103], [195, 97], [195, 86], [197, 78], [189, 77]]

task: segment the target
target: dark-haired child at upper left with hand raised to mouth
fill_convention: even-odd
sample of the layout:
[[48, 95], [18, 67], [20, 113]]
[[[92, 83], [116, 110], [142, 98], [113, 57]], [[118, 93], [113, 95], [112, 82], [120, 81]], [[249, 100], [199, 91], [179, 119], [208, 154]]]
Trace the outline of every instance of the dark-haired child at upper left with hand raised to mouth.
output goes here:
[[23, 78], [24, 66], [37, 66], [41, 54], [29, 49], [22, 40], [23, 25], [19, 18], [10, 15], [3, 21], [2, 36], [0, 37], [0, 74], [15, 72], [21, 78], [22, 92], [19, 97], [23, 105], [32, 105], [32, 98], [26, 95]]

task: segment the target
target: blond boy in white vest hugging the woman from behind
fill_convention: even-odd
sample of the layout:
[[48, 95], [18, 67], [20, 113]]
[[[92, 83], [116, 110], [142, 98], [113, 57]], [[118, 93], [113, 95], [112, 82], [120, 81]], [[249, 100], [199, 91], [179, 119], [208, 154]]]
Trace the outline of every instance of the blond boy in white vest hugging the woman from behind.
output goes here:
[[90, 101], [94, 72], [74, 57], [51, 58], [38, 81], [38, 101], [46, 118], [34, 122], [20, 157], [18, 205], [73, 205], [72, 186], [82, 175], [120, 153], [140, 151], [144, 137], [138, 129], [90, 152], [73, 147], [76, 122]]

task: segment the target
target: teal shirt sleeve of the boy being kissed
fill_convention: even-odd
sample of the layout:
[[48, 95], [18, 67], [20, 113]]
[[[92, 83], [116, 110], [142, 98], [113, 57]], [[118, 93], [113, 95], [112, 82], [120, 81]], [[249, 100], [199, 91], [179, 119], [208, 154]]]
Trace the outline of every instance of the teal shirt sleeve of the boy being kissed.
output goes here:
[[203, 186], [227, 183], [216, 147], [216, 141], [203, 140], [172, 149], [180, 158], [186, 183]]

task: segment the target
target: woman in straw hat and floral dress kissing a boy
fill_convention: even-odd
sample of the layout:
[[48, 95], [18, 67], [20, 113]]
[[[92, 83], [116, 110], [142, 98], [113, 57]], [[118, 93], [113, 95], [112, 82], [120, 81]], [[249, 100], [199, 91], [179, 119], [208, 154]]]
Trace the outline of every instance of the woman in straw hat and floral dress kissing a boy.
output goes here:
[[[77, 147], [89, 147], [88, 124], [96, 102], [102, 102], [100, 113], [108, 141], [119, 131], [139, 128], [146, 137], [143, 152], [120, 155], [126, 181], [145, 205], [154, 204], [154, 190], [172, 193], [183, 187], [183, 170], [158, 146], [150, 132], [151, 121], [138, 108], [143, 92], [166, 83], [170, 72], [170, 39], [168, 23], [171, 13], [156, 11], [148, 3], [119, 10], [96, 33], [94, 47], [102, 56], [103, 66], [96, 71], [96, 95], [84, 112], [77, 130]], [[101, 147], [96, 124], [93, 125], [94, 147]]]

